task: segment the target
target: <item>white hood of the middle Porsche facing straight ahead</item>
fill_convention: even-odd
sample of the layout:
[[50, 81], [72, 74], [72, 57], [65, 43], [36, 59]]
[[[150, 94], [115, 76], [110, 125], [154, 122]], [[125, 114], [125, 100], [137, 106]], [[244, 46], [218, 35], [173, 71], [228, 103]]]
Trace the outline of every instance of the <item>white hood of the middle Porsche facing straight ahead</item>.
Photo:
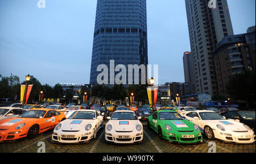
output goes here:
[[115, 131], [133, 131], [137, 124], [141, 124], [139, 120], [110, 120]]

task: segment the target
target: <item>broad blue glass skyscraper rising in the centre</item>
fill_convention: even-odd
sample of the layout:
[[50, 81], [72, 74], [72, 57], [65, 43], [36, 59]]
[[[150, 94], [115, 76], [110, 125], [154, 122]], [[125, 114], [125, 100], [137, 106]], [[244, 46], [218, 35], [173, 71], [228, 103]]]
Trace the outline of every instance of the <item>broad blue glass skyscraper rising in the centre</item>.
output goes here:
[[98, 65], [106, 64], [110, 71], [110, 60], [127, 71], [128, 64], [147, 64], [146, 0], [97, 1], [90, 84], [97, 84]]

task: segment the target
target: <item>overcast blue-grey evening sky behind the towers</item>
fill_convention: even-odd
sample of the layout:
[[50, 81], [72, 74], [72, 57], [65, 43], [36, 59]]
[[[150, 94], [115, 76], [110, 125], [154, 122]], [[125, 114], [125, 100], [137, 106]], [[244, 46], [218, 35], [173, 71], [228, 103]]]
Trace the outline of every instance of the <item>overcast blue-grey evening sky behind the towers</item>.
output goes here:
[[[0, 0], [0, 74], [41, 84], [89, 84], [96, 0]], [[255, 0], [228, 0], [234, 34], [255, 25]], [[147, 0], [148, 63], [159, 84], [184, 82], [190, 51], [184, 0]]]

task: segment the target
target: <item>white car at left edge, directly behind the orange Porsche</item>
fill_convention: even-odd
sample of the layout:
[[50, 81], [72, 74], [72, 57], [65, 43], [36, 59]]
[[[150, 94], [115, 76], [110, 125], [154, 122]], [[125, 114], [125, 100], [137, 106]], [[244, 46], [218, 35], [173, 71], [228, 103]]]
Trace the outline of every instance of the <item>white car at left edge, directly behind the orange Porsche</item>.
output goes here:
[[27, 110], [18, 107], [0, 107], [0, 120], [7, 118], [15, 118]]

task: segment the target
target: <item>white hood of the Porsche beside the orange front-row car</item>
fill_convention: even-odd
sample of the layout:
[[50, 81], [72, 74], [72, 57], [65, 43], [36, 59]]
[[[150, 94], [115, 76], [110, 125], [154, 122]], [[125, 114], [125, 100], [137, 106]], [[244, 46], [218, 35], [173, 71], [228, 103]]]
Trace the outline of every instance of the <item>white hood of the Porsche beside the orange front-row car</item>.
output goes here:
[[76, 131], [84, 129], [87, 124], [93, 124], [93, 119], [66, 119], [61, 122], [61, 130]]

